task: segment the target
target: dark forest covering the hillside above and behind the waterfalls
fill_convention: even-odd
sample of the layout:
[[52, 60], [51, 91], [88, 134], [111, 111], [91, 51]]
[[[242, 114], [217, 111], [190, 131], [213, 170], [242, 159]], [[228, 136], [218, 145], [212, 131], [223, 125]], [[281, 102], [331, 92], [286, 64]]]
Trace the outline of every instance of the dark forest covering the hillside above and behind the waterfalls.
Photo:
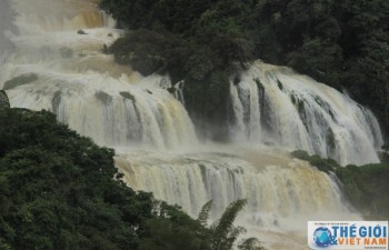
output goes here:
[[[346, 88], [389, 128], [387, 0], [101, 0], [100, 7], [134, 30], [111, 52], [143, 73], [169, 71], [191, 82], [188, 89], [200, 89], [213, 72], [230, 77], [259, 58]], [[191, 114], [211, 118], [208, 97], [186, 94], [205, 103], [189, 101]]]

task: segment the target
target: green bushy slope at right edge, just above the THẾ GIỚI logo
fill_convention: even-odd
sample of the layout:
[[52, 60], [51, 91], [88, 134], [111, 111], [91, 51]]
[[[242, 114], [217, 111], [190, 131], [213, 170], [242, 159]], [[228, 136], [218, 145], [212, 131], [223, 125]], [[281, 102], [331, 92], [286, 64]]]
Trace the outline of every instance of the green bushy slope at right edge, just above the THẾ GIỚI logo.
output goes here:
[[326, 173], [335, 172], [341, 181], [345, 194], [352, 206], [368, 218], [387, 219], [389, 216], [389, 162], [357, 166], [339, 166], [332, 159], [309, 156], [297, 150], [291, 156], [309, 161]]

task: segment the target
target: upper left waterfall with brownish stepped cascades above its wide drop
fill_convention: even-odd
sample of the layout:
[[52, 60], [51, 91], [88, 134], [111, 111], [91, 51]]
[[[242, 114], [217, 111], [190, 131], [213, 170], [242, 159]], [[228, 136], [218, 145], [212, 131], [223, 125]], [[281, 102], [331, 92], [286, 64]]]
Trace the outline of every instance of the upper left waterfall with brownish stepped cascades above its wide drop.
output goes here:
[[33, 3], [13, 1], [20, 34], [11, 37], [17, 52], [0, 77], [12, 107], [50, 110], [101, 146], [174, 148], [197, 141], [187, 111], [161, 88], [170, 84], [168, 77], [141, 77], [101, 52], [120, 31], [93, 1]]

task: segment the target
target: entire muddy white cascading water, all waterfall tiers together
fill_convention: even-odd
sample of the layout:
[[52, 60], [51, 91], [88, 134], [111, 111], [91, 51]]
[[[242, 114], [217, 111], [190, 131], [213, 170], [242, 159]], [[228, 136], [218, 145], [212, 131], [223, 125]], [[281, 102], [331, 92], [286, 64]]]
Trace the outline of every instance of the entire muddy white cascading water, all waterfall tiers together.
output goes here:
[[11, 2], [19, 34], [9, 36], [16, 52], [0, 64], [0, 88], [11, 106], [50, 110], [81, 134], [116, 148], [117, 166], [133, 189], [191, 216], [212, 199], [213, 219], [247, 198], [239, 220], [269, 249], [307, 249], [309, 219], [356, 218], [333, 178], [261, 146], [306, 149], [342, 163], [377, 161], [376, 118], [348, 97], [257, 62], [231, 83], [236, 142], [200, 144], [182, 92], [178, 101], [166, 90], [168, 77], [142, 77], [101, 52], [121, 31], [97, 10], [97, 1]]

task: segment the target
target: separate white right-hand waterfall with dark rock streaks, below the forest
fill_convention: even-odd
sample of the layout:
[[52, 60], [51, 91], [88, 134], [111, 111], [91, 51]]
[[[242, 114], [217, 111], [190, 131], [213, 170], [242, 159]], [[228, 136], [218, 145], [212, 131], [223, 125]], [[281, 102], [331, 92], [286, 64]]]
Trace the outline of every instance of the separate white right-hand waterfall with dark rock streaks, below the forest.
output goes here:
[[341, 164], [378, 162], [382, 136], [375, 116], [349, 97], [257, 61], [231, 82], [235, 140], [302, 149]]

